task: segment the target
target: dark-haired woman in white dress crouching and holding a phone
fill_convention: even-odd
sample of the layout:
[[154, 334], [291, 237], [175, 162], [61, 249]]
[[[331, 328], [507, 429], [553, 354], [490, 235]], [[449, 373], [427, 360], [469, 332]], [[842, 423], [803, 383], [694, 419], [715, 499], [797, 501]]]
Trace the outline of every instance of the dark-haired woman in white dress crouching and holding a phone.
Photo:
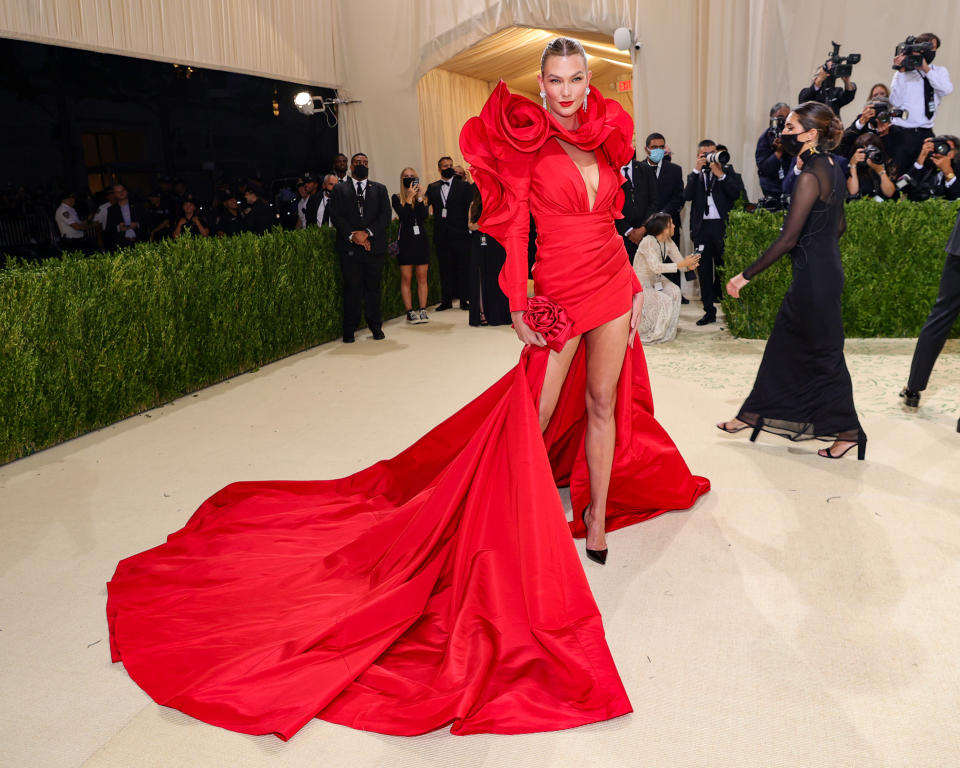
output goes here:
[[644, 226], [647, 235], [640, 241], [633, 260], [633, 270], [643, 283], [643, 317], [637, 330], [644, 344], [657, 344], [677, 335], [680, 316], [680, 289], [663, 275], [696, 269], [700, 254], [680, 258], [672, 240], [674, 226], [669, 213], [653, 214]]

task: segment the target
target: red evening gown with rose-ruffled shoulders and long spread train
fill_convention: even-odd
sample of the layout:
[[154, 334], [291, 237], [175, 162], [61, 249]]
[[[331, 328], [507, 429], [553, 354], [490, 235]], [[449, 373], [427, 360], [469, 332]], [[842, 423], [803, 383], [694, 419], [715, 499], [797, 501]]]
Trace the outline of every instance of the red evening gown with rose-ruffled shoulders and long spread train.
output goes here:
[[[576, 331], [628, 311], [633, 270], [613, 225], [633, 126], [590, 99], [561, 129], [501, 83], [461, 144], [507, 250], [512, 308], [526, 302], [527, 210], [537, 293]], [[596, 150], [588, 210], [554, 137]], [[522, 244], [522, 247], [521, 247]], [[537, 408], [548, 350], [518, 365], [403, 453], [350, 477], [234, 483], [108, 584], [114, 661], [158, 703], [243, 733], [289, 738], [311, 718], [386, 734], [570, 728], [631, 711], [557, 485], [579, 513], [584, 355], [555, 415]], [[607, 530], [689, 508], [709, 489], [653, 417], [639, 342], [616, 405]], [[616, 557], [616, 549], [613, 551]]]

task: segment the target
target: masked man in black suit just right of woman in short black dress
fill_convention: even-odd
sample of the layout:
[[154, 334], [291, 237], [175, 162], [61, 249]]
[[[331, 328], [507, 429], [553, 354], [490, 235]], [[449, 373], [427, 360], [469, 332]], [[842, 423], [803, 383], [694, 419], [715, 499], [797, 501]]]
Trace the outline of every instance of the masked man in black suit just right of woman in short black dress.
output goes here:
[[460, 309], [470, 309], [467, 301], [470, 263], [467, 216], [473, 202], [473, 185], [457, 176], [452, 158], [441, 157], [437, 167], [440, 179], [427, 187], [427, 202], [433, 212], [433, 243], [440, 263], [441, 301], [436, 311], [453, 307], [455, 298], [460, 299]]

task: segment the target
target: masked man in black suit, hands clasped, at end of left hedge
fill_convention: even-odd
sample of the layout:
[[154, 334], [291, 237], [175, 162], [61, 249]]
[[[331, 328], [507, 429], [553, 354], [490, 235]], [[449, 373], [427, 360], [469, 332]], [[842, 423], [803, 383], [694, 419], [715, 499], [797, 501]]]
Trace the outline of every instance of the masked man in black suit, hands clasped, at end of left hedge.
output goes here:
[[350, 176], [333, 188], [333, 225], [343, 274], [343, 342], [351, 344], [360, 325], [360, 302], [373, 338], [385, 338], [380, 311], [387, 228], [392, 216], [387, 188], [370, 181], [363, 152], [350, 158]]

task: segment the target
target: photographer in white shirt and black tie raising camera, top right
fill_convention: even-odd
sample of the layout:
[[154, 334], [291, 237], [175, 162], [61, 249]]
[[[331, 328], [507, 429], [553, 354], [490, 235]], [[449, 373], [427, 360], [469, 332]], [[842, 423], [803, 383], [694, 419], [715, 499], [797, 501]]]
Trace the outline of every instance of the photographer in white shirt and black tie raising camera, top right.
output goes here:
[[920, 153], [924, 140], [933, 137], [940, 100], [953, 90], [947, 68], [933, 64], [939, 48], [940, 38], [932, 32], [908, 37], [897, 46], [890, 100], [909, 113], [894, 120], [903, 131], [899, 156], [894, 157], [898, 165], [906, 166]]

